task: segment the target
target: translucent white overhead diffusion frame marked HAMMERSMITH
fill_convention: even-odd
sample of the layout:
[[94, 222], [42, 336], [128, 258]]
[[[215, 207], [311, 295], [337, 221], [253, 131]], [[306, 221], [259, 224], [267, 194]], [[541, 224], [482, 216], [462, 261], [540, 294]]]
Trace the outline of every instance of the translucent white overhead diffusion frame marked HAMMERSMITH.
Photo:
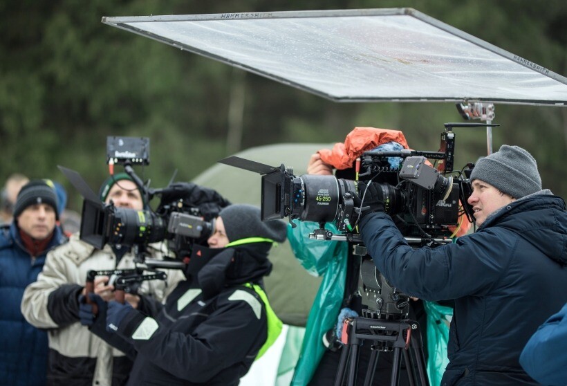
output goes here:
[[566, 77], [411, 8], [102, 22], [336, 102], [567, 105]]

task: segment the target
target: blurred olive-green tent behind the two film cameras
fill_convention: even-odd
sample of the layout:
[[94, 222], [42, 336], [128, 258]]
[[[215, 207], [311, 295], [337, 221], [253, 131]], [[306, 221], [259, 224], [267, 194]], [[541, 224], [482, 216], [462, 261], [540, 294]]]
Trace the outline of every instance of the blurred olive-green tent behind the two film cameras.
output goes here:
[[[331, 147], [333, 144], [328, 143], [285, 143], [252, 147], [234, 156], [270, 166], [278, 167], [283, 163], [286, 167], [293, 167], [296, 176], [301, 176], [306, 173], [311, 154]], [[218, 163], [196, 176], [193, 182], [211, 187], [232, 203], [260, 206], [260, 174]], [[309, 275], [301, 267], [287, 242], [272, 248], [270, 261], [274, 264], [274, 269], [265, 279], [270, 304], [284, 323], [304, 327], [321, 279]]]

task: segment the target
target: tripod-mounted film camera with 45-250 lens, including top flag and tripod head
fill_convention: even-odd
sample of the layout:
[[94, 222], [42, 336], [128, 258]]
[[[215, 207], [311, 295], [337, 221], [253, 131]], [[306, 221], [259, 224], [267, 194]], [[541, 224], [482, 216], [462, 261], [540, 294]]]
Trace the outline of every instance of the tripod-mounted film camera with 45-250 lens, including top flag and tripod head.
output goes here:
[[[435, 246], [450, 242], [459, 221], [472, 221], [472, 208], [467, 203], [472, 190], [467, 164], [460, 172], [453, 171], [455, 134], [453, 127], [486, 126], [476, 123], [446, 123], [441, 134], [439, 151], [366, 151], [357, 165], [358, 179], [304, 174], [295, 176], [285, 165], [270, 167], [251, 160], [229, 157], [221, 163], [262, 174], [261, 216], [263, 220], [288, 217], [290, 222], [319, 223], [309, 237], [321, 240], [353, 242], [353, 255], [360, 256], [359, 292], [366, 318], [402, 319], [407, 317], [409, 296], [401, 293], [375, 268], [366, 254], [357, 232], [357, 222], [364, 210], [354, 195], [364, 192], [364, 185], [375, 184], [390, 214], [409, 243]], [[393, 167], [390, 158], [398, 158]], [[401, 162], [399, 162], [401, 160]], [[434, 163], [429, 165], [428, 160]], [[354, 175], [354, 173], [353, 173]], [[324, 228], [334, 223], [340, 234]], [[292, 223], [293, 224], [293, 223]]]

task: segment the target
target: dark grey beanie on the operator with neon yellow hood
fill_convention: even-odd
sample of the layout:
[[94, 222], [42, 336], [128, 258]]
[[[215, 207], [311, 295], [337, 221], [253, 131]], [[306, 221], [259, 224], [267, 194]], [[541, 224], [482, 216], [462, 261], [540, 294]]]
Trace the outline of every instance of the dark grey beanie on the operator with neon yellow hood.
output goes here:
[[229, 241], [248, 237], [266, 237], [274, 241], [285, 241], [286, 223], [280, 220], [261, 221], [260, 208], [248, 204], [233, 204], [219, 213], [223, 219], [226, 236]]

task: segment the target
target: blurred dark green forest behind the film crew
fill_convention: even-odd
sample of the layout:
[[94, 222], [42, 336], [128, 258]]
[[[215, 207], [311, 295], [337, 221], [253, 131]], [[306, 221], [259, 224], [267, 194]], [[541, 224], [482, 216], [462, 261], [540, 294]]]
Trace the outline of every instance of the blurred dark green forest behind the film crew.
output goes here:
[[[400, 129], [415, 149], [437, 150], [453, 103], [331, 102], [101, 23], [103, 16], [411, 7], [550, 69], [567, 73], [564, 0], [4, 0], [0, 3], [0, 185], [12, 172], [54, 178], [68, 207], [82, 199], [57, 165], [93, 190], [108, 174], [106, 136], [149, 137], [142, 177], [189, 181], [241, 149], [342, 142], [353, 127]], [[567, 108], [496, 105], [496, 151], [537, 158], [543, 187], [567, 197]], [[456, 138], [455, 168], [486, 154], [485, 129]], [[307, 160], [305, 160], [307, 162]], [[259, 189], [259, 186], [250, 187]]]

